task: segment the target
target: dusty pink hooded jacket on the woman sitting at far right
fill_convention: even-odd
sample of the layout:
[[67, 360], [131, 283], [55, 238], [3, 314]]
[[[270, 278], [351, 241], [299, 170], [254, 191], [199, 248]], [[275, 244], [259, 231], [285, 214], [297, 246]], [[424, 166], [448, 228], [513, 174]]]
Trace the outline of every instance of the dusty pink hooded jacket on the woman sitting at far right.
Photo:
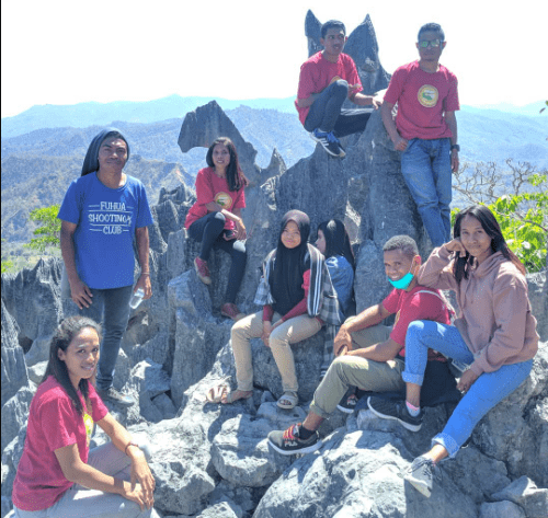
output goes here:
[[539, 337], [525, 276], [496, 252], [470, 269], [459, 286], [450, 254], [445, 245], [435, 249], [419, 270], [419, 283], [456, 292], [455, 325], [476, 358], [470, 368], [479, 376], [533, 358]]

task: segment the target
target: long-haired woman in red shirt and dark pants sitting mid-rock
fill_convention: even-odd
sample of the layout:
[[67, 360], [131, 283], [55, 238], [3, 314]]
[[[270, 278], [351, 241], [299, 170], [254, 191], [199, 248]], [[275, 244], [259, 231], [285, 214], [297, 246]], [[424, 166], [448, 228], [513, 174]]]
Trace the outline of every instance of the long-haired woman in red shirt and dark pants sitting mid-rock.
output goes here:
[[244, 188], [248, 185], [233, 142], [227, 137], [216, 139], [207, 151], [208, 168], [196, 175], [196, 203], [184, 222], [189, 235], [202, 242], [199, 255], [194, 260], [198, 278], [212, 284], [207, 260], [212, 249], [221, 249], [232, 257], [228, 275], [225, 303], [220, 313], [232, 320], [244, 316], [236, 306], [246, 269], [246, 227], [241, 209], [246, 207]]

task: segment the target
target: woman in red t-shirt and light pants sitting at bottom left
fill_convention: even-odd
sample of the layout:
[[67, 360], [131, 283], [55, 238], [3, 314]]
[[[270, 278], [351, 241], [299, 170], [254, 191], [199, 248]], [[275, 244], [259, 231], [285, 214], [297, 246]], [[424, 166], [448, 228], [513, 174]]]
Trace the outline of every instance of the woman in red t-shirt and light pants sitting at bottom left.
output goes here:
[[[145, 452], [90, 382], [100, 334], [98, 323], [77, 315], [62, 321], [52, 338], [13, 482], [18, 518], [158, 517]], [[90, 451], [93, 423], [111, 441]]]

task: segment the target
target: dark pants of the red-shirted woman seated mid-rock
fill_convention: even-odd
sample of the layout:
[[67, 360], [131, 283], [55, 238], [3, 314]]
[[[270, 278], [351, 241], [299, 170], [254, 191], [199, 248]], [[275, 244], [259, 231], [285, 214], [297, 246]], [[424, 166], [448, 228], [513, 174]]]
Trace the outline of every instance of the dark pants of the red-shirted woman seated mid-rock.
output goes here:
[[225, 302], [235, 303], [246, 270], [248, 255], [243, 241], [237, 241], [236, 239], [227, 241], [224, 238], [225, 222], [226, 218], [221, 212], [209, 212], [191, 225], [189, 235], [191, 239], [202, 242], [199, 258], [203, 261], [209, 258], [212, 249], [220, 249], [230, 254], [232, 264], [228, 274]]

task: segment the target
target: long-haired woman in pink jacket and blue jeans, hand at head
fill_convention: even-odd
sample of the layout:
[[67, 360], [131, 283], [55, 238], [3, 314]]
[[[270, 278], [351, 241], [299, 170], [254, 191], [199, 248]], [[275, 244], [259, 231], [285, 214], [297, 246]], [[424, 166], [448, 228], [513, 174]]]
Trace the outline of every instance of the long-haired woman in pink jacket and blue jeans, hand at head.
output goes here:
[[455, 457], [478, 422], [528, 377], [538, 348], [536, 320], [530, 313], [525, 268], [510, 251], [496, 219], [483, 206], [461, 211], [454, 239], [435, 249], [419, 270], [419, 283], [456, 292], [455, 325], [412, 322], [406, 336], [406, 404], [370, 398], [379, 417], [420, 428], [421, 385], [431, 347], [464, 364], [457, 388], [465, 395], [432, 449], [418, 457], [406, 474], [423, 495], [432, 491], [433, 468]]

